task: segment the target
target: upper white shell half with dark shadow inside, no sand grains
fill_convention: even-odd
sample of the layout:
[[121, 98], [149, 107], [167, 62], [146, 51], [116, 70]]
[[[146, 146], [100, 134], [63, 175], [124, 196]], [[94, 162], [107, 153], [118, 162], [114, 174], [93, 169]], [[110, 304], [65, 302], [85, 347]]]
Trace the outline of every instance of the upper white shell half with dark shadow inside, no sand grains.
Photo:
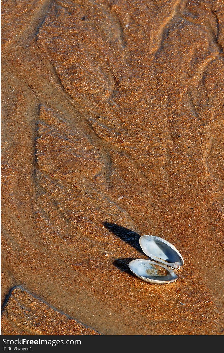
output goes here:
[[184, 264], [184, 259], [179, 251], [167, 240], [155, 235], [143, 235], [139, 244], [146, 255], [155, 261], [179, 270]]

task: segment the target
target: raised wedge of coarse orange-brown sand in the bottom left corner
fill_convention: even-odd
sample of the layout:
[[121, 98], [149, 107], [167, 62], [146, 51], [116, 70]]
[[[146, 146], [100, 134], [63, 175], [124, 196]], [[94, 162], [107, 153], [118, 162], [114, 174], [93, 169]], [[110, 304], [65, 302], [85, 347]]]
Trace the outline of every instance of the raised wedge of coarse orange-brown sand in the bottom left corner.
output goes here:
[[98, 335], [18, 287], [4, 306], [1, 324], [2, 335]]

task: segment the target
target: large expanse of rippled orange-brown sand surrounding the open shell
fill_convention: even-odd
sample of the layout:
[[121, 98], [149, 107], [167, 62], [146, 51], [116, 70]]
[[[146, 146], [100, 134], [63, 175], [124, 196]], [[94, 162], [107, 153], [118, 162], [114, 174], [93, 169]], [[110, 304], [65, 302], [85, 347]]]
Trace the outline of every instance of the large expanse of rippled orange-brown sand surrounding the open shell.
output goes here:
[[[104, 335], [223, 334], [223, 46], [223, 0], [2, 1], [3, 295]], [[128, 272], [143, 234], [177, 282]]]

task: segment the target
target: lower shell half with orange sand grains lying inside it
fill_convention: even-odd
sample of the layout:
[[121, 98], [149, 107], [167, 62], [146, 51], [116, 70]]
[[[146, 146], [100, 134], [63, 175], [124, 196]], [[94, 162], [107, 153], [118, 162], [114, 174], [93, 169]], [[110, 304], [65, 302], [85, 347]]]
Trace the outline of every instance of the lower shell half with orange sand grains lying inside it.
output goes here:
[[171, 283], [178, 279], [178, 276], [172, 269], [155, 261], [144, 259], [132, 260], [128, 264], [128, 267], [141, 280], [157, 285]]

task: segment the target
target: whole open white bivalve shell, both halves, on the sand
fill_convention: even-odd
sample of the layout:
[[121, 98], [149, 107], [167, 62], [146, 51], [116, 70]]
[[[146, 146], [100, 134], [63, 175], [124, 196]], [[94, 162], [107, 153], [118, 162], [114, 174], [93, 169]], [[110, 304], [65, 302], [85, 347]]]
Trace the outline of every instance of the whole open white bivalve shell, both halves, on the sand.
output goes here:
[[169, 243], [155, 235], [143, 235], [139, 244], [151, 260], [132, 260], [128, 266], [140, 279], [155, 284], [171, 283], [178, 279], [173, 269], [178, 270], [184, 264], [179, 251]]

